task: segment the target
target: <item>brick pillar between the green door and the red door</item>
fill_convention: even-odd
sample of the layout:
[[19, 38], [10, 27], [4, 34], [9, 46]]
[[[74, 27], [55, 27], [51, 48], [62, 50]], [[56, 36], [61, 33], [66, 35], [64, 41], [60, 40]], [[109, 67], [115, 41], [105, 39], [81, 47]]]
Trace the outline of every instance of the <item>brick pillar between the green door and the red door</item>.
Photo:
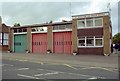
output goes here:
[[27, 50], [32, 52], [32, 37], [31, 28], [27, 28]]

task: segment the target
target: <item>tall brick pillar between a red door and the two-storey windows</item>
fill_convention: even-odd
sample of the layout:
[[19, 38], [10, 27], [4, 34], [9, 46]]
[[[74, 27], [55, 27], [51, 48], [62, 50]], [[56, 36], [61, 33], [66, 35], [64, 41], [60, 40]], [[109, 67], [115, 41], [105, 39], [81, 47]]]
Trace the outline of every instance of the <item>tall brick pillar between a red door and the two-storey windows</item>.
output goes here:
[[77, 20], [72, 21], [72, 53], [77, 51]]

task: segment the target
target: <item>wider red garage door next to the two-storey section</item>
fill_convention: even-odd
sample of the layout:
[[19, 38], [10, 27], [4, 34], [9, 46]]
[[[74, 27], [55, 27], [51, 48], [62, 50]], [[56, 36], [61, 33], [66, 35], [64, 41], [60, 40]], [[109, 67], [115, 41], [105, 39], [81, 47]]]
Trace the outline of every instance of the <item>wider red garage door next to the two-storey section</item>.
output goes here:
[[71, 53], [72, 41], [71, 32], [53, 33], [53, 51], [54, 53]]

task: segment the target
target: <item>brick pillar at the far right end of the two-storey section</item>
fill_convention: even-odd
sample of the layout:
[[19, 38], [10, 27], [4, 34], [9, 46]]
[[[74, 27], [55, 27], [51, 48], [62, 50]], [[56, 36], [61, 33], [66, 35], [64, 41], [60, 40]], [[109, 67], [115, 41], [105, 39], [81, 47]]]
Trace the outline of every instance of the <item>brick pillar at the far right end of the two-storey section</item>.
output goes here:
[[111, 53], [110, 46], [110, 21], [109, 16], [103, 17], [104, 54]]

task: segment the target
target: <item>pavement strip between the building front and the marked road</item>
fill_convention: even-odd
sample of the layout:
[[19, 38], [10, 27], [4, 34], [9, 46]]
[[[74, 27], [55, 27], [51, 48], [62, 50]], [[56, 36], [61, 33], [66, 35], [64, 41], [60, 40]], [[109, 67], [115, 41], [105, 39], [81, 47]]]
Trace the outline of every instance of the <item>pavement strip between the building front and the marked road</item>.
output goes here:
[[119, 54], [102, 55], [68, 55], [68, 54], [33, 54], [2, 53], [2, 59], [29, 61], [41, 64], [63, 64], [76, 67], [118, 68]]

